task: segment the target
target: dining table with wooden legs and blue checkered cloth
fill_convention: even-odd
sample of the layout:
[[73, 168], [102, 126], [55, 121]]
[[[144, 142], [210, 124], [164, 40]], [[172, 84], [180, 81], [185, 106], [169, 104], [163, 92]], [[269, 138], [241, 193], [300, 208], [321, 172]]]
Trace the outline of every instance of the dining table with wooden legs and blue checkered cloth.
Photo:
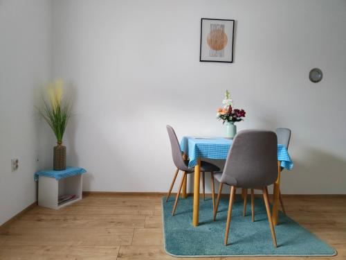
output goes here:
[[[189, 159], [188, 166], [194, 168], [194, 198], [192, 225], [199, 225], [199, 182], [201, 159], [226, 159], [233, 139], [224, 137], [193, 137], [186, 136], [181, 139], [180, 146], [184, 159]], [[277, 180], [273, 189], [273, 224], [278, 223], [278, 205], [280, 196], [280, 175], [282, 168], [289, 171], [293, 162], [285, 146], [277, 144]], [[185, 178], [186, 180], [186, 178]], [[186, 198], [186, 182], [183, 183], [183, 197]]]

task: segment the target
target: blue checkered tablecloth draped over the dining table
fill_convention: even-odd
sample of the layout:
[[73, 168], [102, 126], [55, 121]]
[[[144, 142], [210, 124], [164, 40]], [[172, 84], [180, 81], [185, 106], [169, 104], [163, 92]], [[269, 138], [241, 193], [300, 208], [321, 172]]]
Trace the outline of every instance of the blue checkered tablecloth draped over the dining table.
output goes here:
[[[233, 140], [222, 137], [183, 137], [180, 148], [190, 158], [189, 167], [194, 167], [198, 158], [226, 159], [232, 143]], [[293, 168], [291, 157], [282, 144], [277, 144], [277, 160], [282, 167]]]

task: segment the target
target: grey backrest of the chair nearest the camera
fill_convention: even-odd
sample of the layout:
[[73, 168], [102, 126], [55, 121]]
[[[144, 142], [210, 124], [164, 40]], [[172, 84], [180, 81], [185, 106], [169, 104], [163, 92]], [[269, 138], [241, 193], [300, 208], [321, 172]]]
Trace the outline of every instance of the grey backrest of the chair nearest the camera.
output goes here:
[[243, 130], [235, 135], [221, 182], [239, 188], [262, 188], [277, 179], [277, 137], [266, 130]]

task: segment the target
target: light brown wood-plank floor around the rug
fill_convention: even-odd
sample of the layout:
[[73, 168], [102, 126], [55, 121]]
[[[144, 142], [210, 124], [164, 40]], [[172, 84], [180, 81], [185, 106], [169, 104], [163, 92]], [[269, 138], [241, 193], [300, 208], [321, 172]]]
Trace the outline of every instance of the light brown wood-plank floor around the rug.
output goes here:
[[[338, 250], [336, 257], [289, 259], [346, 259], [345, 196], [284, 196], [284, 202], [291, 218]], [[163, 250], [161, 196], [89, 194], [59, 211], [35, 207], [1, 230], [0, 259], [175, 258]]]

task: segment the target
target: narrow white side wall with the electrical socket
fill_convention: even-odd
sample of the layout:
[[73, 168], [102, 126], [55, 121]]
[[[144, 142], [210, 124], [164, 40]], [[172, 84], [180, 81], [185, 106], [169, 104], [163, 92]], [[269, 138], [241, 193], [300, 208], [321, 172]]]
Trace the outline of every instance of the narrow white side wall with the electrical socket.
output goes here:
[[[51, 1], [0, 1], [0, 225], [36, 200], [33, 173], [51, 157], [51, 135], [35, 112], [50, 73], [50, 30]], [[15, 172], [11, 158], [19, 159]]]

